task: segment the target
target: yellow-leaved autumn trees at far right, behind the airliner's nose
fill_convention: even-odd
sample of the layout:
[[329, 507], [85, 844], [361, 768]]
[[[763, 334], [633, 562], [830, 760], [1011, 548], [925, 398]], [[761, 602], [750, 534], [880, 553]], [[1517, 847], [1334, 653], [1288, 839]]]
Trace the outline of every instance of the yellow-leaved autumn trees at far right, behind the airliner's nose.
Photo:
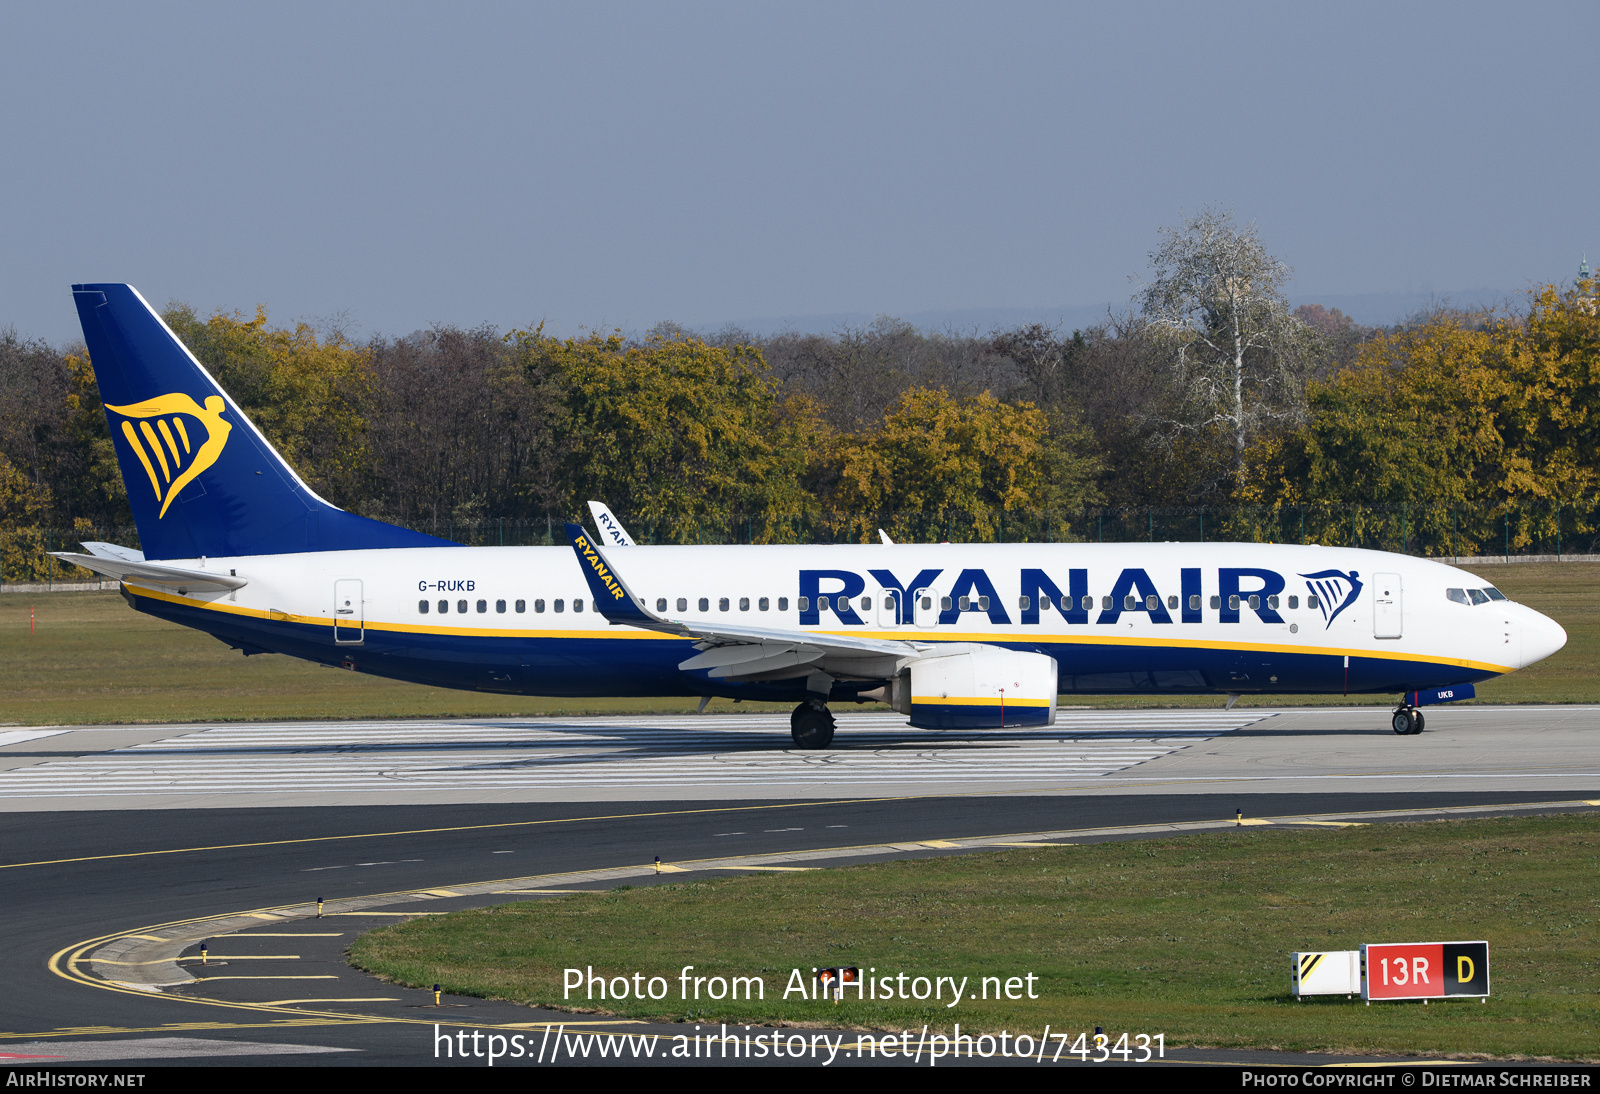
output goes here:
[[1597, 488], [1600, 317], [1547, 286], [1522, 317], [1440, 312], [1373, 337], [1312, 384], [1301, 429], [1251, 449], [1243, 494], [1403, 505], [1424, 539], [1474, 553], [1507, 523], [1512, 545], [1549, 534], [1558, 507], [1587, 512]]

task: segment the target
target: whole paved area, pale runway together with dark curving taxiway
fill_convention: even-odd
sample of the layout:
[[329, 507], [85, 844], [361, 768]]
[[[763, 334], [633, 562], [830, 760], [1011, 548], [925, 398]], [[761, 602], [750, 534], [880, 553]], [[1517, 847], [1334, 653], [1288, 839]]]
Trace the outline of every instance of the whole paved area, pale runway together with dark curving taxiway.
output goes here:
[[[1139, 838], [1235, 811], [1283, 825], [1600, 803], [1600, 709], [1430, 710], [1419, 737], [1384, 718], [1098, 710], [928, 734], [846, 715], [824, 753], [792, 750], [768, 717], [3, 729], [0, 1054], [434, 1064], [435, 1020], [606, 1033], [480, 1000], [434, 1011], [342, 953], [418, 912], [646, 884], [656, 856], [682, 880]], [[229, 963], [197, 972], [198, 937]], [[627, 1027], [646, 1030], [683, 1027]]]

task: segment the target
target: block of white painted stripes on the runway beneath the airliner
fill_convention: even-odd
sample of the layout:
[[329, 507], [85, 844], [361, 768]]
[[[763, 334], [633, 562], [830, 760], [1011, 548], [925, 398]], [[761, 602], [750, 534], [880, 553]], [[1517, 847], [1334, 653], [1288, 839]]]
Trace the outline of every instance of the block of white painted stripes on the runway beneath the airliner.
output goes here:
[[899, 715], [842, 715], [824, 752], [794, 749], [787, 715], [186, 726], [162, 741], [3, 771], [0, 800], [778, 784], [832, 797], [861, 785], [1045, 785], [1125, 771], [1266, 717], [1074, 710], [1048, 729], [931, 733]]

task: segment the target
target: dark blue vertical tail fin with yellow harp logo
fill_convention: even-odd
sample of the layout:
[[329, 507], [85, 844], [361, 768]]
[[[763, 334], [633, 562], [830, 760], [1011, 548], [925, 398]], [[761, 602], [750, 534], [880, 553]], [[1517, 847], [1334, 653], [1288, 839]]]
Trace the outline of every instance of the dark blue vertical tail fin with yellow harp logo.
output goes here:
[[131, 285], [72, 296], [146, 558], [448, 545], [318, 497]]

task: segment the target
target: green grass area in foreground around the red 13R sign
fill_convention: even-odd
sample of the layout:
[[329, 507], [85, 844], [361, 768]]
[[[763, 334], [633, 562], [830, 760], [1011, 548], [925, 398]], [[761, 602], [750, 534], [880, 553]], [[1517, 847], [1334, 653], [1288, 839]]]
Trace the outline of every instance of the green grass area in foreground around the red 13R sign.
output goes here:
[[[1592, 816], [1242, 828], [803, 873], [621, 888], [429, 916], [362, 936], [357, 966], [411, 987], [683, 1022], [1096, 1025], [1166, 1044], [1600, 1056], [1600, 833]], [[1486, 939], [1493, 996], [1294, 1001], [1293, 950]], [[763, 1000], [680, 998], [760, 976]], [[792, 969], [966, 977], [942, 1001], [784, 998]], [[666, 1000], [563, 996], [566, 968], [661, 976]], [[1032, 974], [1038, 998], [973, 998]], [[709, 987], [709, 982], [707, 982]], [[659, 992], [659, 985], [658, 985]]]

